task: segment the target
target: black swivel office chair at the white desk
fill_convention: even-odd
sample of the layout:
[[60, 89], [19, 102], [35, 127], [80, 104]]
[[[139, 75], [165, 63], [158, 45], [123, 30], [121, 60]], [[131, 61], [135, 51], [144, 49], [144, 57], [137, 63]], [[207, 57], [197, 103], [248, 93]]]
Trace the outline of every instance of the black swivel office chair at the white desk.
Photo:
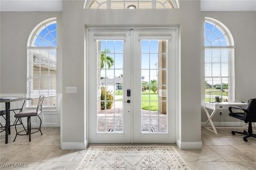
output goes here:
[[[252, 132], [252, 122], [256, 122], [256, 99], [250, 99], [248, 101], [248, 105], [246, 107], [246, 109], [243, 109], [241, 107], [234, 107], [231, 106], [228, 108], [230, 113], [229, 115], [232, 117], [235, 117], [237, 119], [243, 120], [244, 123], [248, 123], [248, 131], [244, 131], [244, 132], [236, 132], [236, 131], [232, 131], [232, 134], [235, 135], [236, 133], [242, 134], [242, 135], [246, 135], [244, 137], [244, 141], [248, 141], [246, 138], [248, 137], [255, 137], [256, 138], [256, 134], [253, 134]], [[234, 113], [232, 111], [232, 109], [239, 109], [242, 110], [243, 113]]]

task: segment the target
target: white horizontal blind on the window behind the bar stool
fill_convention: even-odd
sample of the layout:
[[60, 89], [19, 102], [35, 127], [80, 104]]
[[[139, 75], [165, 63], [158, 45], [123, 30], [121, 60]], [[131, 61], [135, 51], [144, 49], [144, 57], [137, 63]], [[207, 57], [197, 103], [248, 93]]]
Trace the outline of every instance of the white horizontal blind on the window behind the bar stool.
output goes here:
[[27, 107], [38, 104], [44, 94], [44, 107], [56, 107], [56, 48], [27, 49]]

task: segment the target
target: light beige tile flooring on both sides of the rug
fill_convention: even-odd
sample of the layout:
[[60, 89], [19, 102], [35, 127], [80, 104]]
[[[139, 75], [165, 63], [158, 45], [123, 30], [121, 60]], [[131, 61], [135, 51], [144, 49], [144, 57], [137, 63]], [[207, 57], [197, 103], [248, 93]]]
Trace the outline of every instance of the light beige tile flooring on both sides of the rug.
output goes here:
[[[237, 129], [236, 129], [237, 130]], [[182, 158], [192, 170], [256, 170], [256, 138], [244, 142], [242, 135], [232, 135], [231, 129], [217, 129], [218, 135], [202, 128], [202, 150], [180, 150]], [[239, 130], [238, 130], [239, 131]], [[82, 160], [85, 150], [61, 150], [60, 128], [42, 127], [43, 135], [18, 136], [11, 129], [9, 143], [4, 143], [0, 133], [1, 170], [74, 170]], [[148, 144], [147, 144], [148, 145]], [[153, 145], [153, 144], [152, 144]], [[156, 145], [156, 144], [154, 144]], [[26, 168], [5, 168], [4, 163], [23, 163]]]

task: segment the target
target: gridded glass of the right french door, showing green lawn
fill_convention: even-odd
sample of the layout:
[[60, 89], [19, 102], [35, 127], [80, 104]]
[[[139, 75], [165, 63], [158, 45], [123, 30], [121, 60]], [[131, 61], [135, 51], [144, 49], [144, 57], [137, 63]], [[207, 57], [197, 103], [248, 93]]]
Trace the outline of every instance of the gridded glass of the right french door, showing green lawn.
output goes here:
[[167, 41], [141, 41], [142, 133], [167, 133]]

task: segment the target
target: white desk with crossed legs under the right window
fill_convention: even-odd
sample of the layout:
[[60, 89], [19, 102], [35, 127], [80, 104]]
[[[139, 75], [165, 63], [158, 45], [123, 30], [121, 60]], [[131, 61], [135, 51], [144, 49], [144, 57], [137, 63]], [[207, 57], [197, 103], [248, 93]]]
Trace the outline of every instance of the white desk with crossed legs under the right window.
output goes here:
[[[206, 129], [208, 129], [209, 131], [218, 134], [216, 131], [216, 127], [214, 126], [213, 122], [212, 122], [212, 117], [215, 115], [215, 113], [217, 111], [223, 110], [223, 109], [228, 109], [228, 107], [230, 106], [236, 106], [236, 107], [242, 107], [242, 108], [246, 108], [247, 106], [247, 102], [246, 103], [242, 103], [242, 102], [216, 102], [216, 103], [210, 103], [210, 102], [205, 102], [204, 104], [204, 110], [206, 112], [207, 118], [208, 120], [206, 121], [206, 125], [208, 125], [208, 123], [210, 122], [212, 127], [205, 127]], [[212, 109], [212, 113], [209, 114], [207, 109]]]

